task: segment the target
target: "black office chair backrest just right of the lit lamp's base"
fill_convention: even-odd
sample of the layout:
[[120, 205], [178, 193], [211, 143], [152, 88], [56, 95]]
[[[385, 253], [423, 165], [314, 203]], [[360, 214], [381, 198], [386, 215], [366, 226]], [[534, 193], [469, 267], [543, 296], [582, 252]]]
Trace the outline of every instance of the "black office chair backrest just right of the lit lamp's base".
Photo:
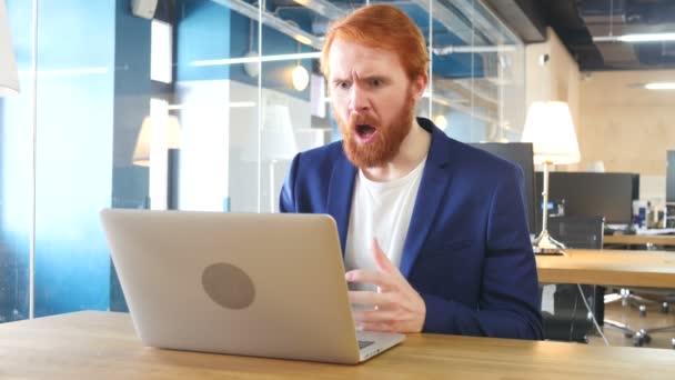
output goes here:
[[602, 249], [603, 217], [551, 217], [548, 233], [567, 248]]

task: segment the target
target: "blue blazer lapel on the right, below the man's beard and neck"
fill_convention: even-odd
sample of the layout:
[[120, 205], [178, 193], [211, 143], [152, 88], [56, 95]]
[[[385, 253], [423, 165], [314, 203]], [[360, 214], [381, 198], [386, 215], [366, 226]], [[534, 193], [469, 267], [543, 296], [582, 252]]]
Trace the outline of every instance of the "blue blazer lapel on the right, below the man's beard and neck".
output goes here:
[[[425, 126], [422, 121], [425, 121]], [[431, 122], [422, 119], [420, 120], [420, 124], [430, 127]], [[447, 137], [433, 124], [431, 124], [431, 148], [426, 158], [424, 172], [422, 173], [420, 190], [417, 190], [415, 198], [415, 206], [401, 257], [400, 270], [405, 278], [409, 277], [422, 250], [422, 246], [426, 241], [432, 222], [435, 219], [436, 212], [439, 212], [439, 204], [442, 204], [443, 197], [446, 194], [452, 179], [451, 171], [447, 170], [447, 166], [451, 164], [450, 156], [452, 153], [449, 151], [449, 144], [446, 143]]]

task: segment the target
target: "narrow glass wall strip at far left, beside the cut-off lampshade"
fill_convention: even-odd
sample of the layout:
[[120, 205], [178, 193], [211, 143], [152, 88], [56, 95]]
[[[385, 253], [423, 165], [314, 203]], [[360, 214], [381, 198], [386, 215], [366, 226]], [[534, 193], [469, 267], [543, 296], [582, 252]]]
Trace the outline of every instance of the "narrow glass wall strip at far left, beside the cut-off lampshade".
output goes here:
[[24, 2], [6, 1], [21, 94], [0, 98], [0, 323], [30, 313], [34, 39]]

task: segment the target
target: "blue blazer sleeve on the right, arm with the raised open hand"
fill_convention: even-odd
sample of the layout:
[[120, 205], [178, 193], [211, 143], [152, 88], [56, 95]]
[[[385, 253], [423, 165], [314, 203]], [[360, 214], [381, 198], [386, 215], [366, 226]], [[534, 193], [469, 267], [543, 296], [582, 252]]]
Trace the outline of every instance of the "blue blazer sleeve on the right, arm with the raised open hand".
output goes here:
[[532, 252], [520, 168], [502, 176], [490, 200], [486, 252], [476, 309], [422, 293], [423, 331], [517, 339], [543, 339], [536, 262]]

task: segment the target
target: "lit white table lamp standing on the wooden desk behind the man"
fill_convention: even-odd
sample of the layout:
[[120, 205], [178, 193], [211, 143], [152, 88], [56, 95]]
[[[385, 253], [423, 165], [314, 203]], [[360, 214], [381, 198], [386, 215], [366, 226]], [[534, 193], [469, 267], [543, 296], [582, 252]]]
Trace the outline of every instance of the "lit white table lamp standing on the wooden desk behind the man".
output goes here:
[[581, 160], [578, 142], [574, 123], [570, 114], [570, 107], [562, 101], [536, 101], [530, 106], [523, 142], [532, 142], [534, 148], [534, 163], [544, 167], [543, 221], [542, 232], [533, 242], [534, 253], [563, 254], [565, 248], [548, 236], [548, 166], [568, 164]]

